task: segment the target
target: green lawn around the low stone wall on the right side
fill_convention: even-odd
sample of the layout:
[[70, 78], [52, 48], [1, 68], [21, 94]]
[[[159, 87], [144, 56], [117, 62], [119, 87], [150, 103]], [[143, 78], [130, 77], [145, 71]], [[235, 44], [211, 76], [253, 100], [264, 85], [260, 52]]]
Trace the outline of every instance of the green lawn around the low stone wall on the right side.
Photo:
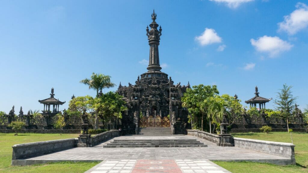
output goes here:
[[[266, 141], [292, 143], [288, 132], [266, 133], [233, 133], [234, 137], [259, 139]], [[217, 162], [215, 163], [233, 173], [304, 173], [308, 172], [308, 133], [293, 132], [296, 165], [279, 166], [267, 163], [252, 162]]]

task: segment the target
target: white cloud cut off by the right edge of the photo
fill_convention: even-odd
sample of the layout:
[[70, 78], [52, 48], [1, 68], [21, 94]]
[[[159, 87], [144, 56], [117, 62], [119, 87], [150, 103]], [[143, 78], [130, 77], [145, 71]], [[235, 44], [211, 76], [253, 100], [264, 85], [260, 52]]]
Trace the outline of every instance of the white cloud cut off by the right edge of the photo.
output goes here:
[[285, 31], [290, 35], [294, 35], [308, 26], [308, 6], [298, 2], [295, 7], [297, 8], [296, 10], [284, 16], [284, 21], [278, 23], [279, 31]]

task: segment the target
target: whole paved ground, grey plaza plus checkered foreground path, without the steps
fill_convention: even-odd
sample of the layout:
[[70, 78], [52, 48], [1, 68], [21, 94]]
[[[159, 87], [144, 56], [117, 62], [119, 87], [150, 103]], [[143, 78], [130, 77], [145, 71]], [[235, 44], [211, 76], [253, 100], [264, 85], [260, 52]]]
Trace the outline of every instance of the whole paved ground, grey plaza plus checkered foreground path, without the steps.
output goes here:
[[[114, 139], [197, 139], [208, 147], [103, 148]], [[210, 160], [271, 162], [286, 158], [238, 147], [217, 147], [215, 143], [187, 135], [120, 136], [95, 147], [72, 148], [25, 160], [84, 161], [102, 160], [87, 173], [227, 173]]]

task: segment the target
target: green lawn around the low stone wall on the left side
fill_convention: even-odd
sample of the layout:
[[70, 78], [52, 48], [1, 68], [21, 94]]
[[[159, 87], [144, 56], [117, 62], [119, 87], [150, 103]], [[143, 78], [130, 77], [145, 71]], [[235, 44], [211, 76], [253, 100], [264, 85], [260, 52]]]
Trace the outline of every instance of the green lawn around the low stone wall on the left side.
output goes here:
[[14, 133], [0, 133], [0, 172], [14, 173], [14, 172], [84, 172], [94, 167], [98, 162], [59, 162], [47, 163], [30, 166], [10, 166], [12, 160], [12, 146], [19, 143], [30, 143], [38, 141], [48, 141], [56, 139], [77, 138], [79, 134], [36, 134], [24, 133], [14, 136]]

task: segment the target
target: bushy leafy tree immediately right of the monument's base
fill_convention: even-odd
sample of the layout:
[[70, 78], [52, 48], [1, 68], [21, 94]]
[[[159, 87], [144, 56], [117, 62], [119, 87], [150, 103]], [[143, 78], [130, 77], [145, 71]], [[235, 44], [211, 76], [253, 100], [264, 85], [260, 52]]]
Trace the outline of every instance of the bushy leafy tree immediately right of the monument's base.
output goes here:
[[186, 107], [188, 112], [193, 117], [201, 116], [201, 130], [203, 131], [203, 120], [204, 115], [209, 108], [209, 104], [205, 103], [205, 100], [219, 94], [217, 86], [213, 85], [203, 85], [193, 86], [193, 88], [188, 88], [182, 97], [182, 106]]

